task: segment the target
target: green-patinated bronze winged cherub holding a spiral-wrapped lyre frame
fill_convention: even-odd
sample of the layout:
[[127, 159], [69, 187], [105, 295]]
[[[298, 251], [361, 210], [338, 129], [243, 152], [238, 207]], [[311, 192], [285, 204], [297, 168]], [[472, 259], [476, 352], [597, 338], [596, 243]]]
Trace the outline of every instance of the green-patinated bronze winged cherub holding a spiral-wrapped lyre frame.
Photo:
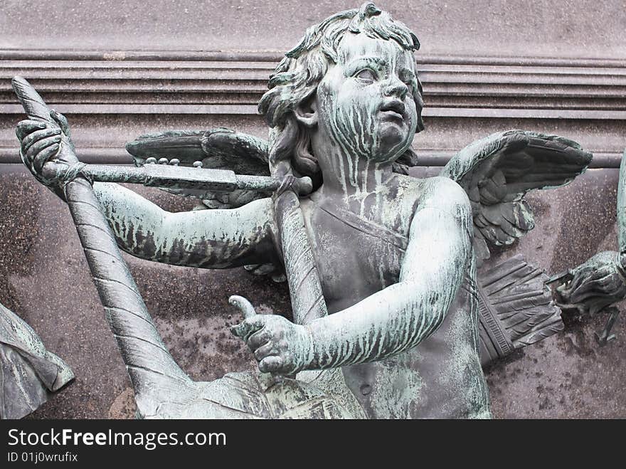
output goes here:
[[[410, 176], [424, 129], [419, 46], [373, 4], [329, 16], [270, 78], [267, 141], [227, 129], [146, 135], [127, 145], [134, 169], [78, 162], [67, 121], [14, 80], [29, 115], [17, 130], [23, 162], [68, 202], [139, 416], [488, 418], [482, 364], [563, 327], [546, 275], [521, 258], [479, 264], [533, 228], [527, 191], [568, 184], [592, 155], [512, 130], [462, 149], [437, 177]], [[168, 213], [102, 181], [161, 186], [206, 210]], [[231, 298], [245, 316], [233, 333], [258, 371], [189, 379], [118, 247], [284, 273], [291, 316]]]

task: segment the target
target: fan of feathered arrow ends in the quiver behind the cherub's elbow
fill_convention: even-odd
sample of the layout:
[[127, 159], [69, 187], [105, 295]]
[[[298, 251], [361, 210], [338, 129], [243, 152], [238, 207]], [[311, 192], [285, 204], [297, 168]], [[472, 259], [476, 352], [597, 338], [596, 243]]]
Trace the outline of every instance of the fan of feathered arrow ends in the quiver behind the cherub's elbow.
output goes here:
[[563, 330], [548, 275], [514, 255], [478, 273], [479, 335], [483, 366]]

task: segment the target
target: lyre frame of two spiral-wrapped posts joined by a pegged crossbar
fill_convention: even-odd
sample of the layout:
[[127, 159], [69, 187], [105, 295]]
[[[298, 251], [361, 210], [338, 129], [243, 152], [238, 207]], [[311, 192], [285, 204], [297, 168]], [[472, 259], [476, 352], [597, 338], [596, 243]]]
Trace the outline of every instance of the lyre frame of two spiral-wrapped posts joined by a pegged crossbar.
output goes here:
[[[14, 78], [13, 87], [31, 119], [44, 120], [57, 125], [50, 117], [48, 106], [26, 80], [21, 77]], [[104, 214], [100, 211], [90, 180], [129, 182], [161, 187], [184, 186], [221, 191], [233, 189], [275, 191], [280, 189], [285, 176], [289, 176], [282, 169], [282, 167], [275, 169], [272, 176], [264, 177], [237, 175], [234, 172], [216, 169], [163, 167], [161, 165], [147, 165], [142, 168], [87, 165], [78, 162], [70, 142], [63, 135], [56, 162], [46, 163], [43, 175], [65, 181], [65, 198], [74, 218], [100, 300], [107, 311], [107, 320], [122, 350], [122, 356], [134, 386], [143, 382], [142, 379], [146, 376], [139, 375], [143, 375], [144, 372], [156, 372], [166, 376], [171, 374], [171, 376], [188, 381], [189, 378], [174, 362], [162, 343], [154, 322], [139, 295], [137, 285], [122, 259], [115, 236]], [[290, 188], [282, 191], [275, 199], [275, 214], [280, 230], [280, 245], [285, 260], [285, 270], [289, 280], [294, 322], [301, 325], [328, 314], [297, 195], [307, 194], [311, 189], [312, 184], [309, 178], [294, 178]], [[105, 265], [107, 268], [103, 271]], [[249, 303], [244, 307], [241, 302], [235, 301], [233, 305], [240, 307], [246, 315], [250, 315]], [[131, 315], [129, 318], [142, 318], [144, 323], [135, 324], [137, 321], [134, 319], [127, 322], [124, 320], [126, 313]], [[132, 331], [130, 333], [126, 331], [126, 334], [116, 332], [121, 323], [132, 325]], [[139, 327], [139, 330], [135, 331], [136, 327]], [[124, 354], [125, 349], [139, 350], [141, 348], [125, 347], [128, 345], [128, 340], [132, 341], [146, 336], [151, 337], [149, 343], [161, 350], [162, 356], [153, 355], [153, 357], [159, 357], [158, 360], [153, 362], [152, 357], [144, 357], [142, 354]], [[162, 369], [152, 369], [154, 364], [161, 364]], [[136, 390], [137, 386], [135, 386]]]

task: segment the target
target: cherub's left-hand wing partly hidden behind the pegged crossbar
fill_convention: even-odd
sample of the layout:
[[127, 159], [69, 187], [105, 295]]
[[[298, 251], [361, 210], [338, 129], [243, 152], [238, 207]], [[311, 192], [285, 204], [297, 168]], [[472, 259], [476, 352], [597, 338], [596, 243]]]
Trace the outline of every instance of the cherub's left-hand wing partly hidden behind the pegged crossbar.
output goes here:
[[[201, 162], [202, 167], [229, 169], [237, 174], [269, 176], [267, 141], [252, 135], [235, 132], [226, 127], [211, 130], [170, 130], [138, 137], [126, 145], [137, 166], [148, 158], [178, 159], [181, 166], [191, 167]], [[235, 209], [256, 199], [267, 197], [257, 191], [237, 190], [227, 194], [194, 189], [164, 190], [172, 194], [202, 199], [209, 209]]]

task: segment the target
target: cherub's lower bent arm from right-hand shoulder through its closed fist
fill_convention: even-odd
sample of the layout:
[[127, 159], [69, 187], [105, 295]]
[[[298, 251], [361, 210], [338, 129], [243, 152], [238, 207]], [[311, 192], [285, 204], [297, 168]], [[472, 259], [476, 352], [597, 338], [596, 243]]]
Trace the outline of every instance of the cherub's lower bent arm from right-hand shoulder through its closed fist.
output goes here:
[[262, 371], [293, 373], [391, 357], [441, 325], [472, 256], [472, 209], [456, 183], [433, 178], [427, 184], [398, 283], [306, 326], [257, 315], [235, 328]]

